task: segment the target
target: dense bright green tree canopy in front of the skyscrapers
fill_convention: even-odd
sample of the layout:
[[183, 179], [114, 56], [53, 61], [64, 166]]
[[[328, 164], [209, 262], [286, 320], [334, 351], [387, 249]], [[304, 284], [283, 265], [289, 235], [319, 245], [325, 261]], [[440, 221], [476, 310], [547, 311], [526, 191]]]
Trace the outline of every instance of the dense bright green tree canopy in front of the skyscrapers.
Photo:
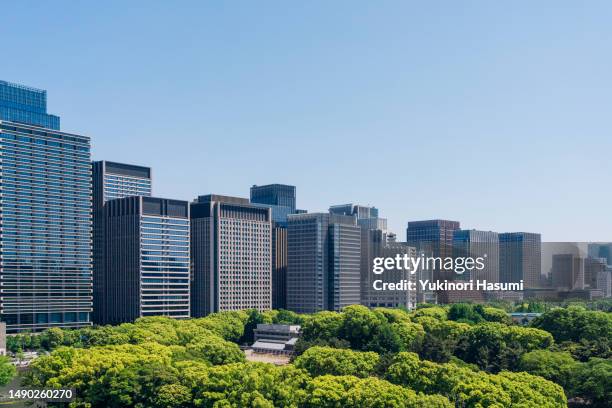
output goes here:
[[[246, 361], [239, 345], [259, 323], [302, 326], [291, 364]], [[612, 314], [584, 305], [552, 307], [528, 326], [465, 303], [145, 317], [18, 335], [9, 347], [50, 351], [24, 385], [74, 388], [75, 406], [565, 407], [569, 399], [595, 408], [612, 398]]]

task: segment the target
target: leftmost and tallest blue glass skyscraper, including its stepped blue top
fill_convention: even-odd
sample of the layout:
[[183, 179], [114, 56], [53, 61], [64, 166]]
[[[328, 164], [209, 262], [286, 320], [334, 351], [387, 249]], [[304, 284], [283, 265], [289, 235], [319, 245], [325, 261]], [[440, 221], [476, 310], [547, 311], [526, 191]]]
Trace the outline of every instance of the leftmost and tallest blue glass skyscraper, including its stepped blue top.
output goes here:
[[91, 324], [90, 139], [60, 132], [45, 112], [45, 91], [0, 82], [0, 314], [9, 333]]

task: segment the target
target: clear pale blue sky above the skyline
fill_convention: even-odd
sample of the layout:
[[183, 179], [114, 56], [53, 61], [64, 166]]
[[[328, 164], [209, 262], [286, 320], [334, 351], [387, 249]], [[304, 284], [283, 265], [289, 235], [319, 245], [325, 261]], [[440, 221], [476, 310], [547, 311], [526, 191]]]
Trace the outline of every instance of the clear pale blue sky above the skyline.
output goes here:
[[48, 90], [154, 194], [376, 205], [612, 239], [612, 2], [2, 4], [0, 79]]

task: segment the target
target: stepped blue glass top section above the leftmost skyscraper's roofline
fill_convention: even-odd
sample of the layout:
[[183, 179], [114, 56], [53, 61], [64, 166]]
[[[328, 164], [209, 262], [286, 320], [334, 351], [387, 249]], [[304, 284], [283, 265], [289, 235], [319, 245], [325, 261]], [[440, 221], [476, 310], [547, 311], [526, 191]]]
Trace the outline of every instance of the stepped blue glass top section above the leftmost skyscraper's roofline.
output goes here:
[[60, 118], [47, 113], [47, 91], [0, 81], [0, 120], [60, 129]]

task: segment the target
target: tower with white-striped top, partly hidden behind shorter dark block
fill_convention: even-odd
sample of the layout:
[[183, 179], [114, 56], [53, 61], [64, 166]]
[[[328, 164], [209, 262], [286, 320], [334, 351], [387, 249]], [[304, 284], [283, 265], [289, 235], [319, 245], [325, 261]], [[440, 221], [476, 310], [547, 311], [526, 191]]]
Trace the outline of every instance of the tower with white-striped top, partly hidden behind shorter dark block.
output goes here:
[[105, 212], [104, 203], [116, 198], [151, 196], [151, 169], [106, 160], [92, 163], [93, 175], [93, 287], [94, 323], [108, 321], [105, 299], [106, 271], [104, 268]]

